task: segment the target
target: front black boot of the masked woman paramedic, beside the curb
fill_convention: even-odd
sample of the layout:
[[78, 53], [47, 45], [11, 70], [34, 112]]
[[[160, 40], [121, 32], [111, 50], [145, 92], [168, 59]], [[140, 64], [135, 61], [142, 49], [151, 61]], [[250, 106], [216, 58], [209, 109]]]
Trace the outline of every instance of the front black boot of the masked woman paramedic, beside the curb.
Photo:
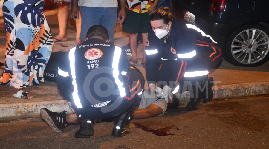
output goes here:
[[204, 90], [201, 91], [201, 89], [199, 89], [197, 86], [199, 85], [201, 88], [203, 88], [206, 83], [207, 82], [192, 85], [192, 91], [189, 90], [190, 97], [192, 98], [190, 98], [191, 100], [186, 106], [187, 110], [197, 110], [202, 107], [203, 99], [206, 97], [207, 89], [204, 88]]

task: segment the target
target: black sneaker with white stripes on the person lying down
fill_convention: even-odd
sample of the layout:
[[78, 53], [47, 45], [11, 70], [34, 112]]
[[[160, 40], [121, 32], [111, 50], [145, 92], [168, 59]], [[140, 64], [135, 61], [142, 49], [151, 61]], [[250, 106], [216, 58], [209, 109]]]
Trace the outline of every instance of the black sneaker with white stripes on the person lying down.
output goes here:
[[40, 109], [41, 117], [48, 123], [53, 131], [64, 133], [64, 128], [68, 127], [70, 124], [66, 122], [66, 111], [51, 112], [47, 108]]

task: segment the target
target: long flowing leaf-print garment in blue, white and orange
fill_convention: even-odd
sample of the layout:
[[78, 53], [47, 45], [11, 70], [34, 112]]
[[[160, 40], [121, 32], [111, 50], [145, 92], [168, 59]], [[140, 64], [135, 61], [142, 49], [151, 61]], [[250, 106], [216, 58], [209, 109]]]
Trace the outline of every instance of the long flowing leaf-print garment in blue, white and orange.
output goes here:
[[23, 88], [44, 82], [53, 40], [43, 7], [44, 0], [4, 0], [7, 41], [1, 85]]

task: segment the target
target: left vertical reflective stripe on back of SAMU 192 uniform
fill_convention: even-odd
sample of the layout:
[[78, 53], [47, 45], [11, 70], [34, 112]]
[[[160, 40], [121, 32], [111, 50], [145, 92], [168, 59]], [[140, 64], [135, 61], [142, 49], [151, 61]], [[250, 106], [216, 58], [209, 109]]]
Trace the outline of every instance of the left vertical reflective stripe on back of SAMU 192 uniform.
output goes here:
[[72, 93], [74, 103], [77, 106], [77, 108], [82, 108], [82, 105], [80, 103], [80, 98], [77, 94], [77, 82], [76, 82], [76, 73], [75, 73], [75, 50], [76, 47], [70, 49], [69, 51], [69, 61], [70, 61], [70, 70], [71, 70], [71, 75], [72, 75], [72, 84], [74, 86], [74, 91]]

